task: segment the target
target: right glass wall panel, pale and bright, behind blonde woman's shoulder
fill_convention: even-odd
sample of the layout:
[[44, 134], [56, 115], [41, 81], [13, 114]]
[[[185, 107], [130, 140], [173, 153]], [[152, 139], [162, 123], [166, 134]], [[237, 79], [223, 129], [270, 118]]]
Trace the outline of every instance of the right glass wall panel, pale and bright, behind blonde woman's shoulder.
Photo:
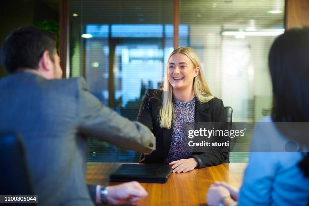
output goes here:
[[[196, 50], [212, 93], [233, 108], [233, 122], [270, 114], [268, 52], [284, 32], [282, 11], [284, 0], [180, 0], [180, 24], [189, 28], [180, 46]], [[230, 161], [246, 162], [247, 154], [231, 153]]]

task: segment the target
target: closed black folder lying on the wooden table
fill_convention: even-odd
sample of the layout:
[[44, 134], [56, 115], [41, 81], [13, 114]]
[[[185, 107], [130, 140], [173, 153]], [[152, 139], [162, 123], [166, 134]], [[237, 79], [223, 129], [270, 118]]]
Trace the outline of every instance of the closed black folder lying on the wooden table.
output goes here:
[[172, 172], [168, 164], [121, 164], [110, 174], [111, 182], [165, 183]]

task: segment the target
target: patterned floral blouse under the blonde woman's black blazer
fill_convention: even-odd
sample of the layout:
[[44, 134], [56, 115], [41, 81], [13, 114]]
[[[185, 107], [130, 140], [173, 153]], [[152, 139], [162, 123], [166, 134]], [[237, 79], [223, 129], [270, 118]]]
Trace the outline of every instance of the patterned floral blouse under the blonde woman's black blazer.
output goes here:
[[192, 151], [187, 147], [188, 138], [183, 138], [183, 123], [195, 122], [195, 97], [189, 102], [175, 100], [174, 111], [171, 147], [164, 163], [187, 159], [192, 155]]

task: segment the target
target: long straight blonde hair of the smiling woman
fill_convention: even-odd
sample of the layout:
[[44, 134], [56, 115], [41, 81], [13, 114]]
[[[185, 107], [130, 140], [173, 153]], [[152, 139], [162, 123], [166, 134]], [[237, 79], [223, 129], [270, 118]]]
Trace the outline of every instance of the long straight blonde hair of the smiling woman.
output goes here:
[[[186, 55], [193, 63], [194, 67], [199, 67], [199, 73], [193, 80], [193, 92], [194, 96], [200, 102], [208, 102], [214, 96], [211, 94], [206, 80], [204, 78], [204, 74], [202, 72], [202, 68], [200, 65], [200, 61], [193, 50], [190, 47], [179, 47], [175, 49], [169, 56], [168, 61], [171, 56], [177, 53], [181, 53]], [[164, 82], [162, 86], [162, 106], [160, 109], [160, 127], [171, 129], [171, 124], [174, 116], [174, 104], [173, 104], [173, 88], [168, 80], [168, 65], [164, 74]]]

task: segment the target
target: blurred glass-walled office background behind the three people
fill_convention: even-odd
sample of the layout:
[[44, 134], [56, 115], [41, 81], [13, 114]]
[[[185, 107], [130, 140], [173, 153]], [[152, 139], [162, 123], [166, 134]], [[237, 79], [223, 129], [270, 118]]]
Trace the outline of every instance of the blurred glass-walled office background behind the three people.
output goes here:
[[[233, 122], [254, 123], [272, 105], [268, 50], [285, 28], [297, 26], [294, 13], [306, 5], [306, 0], [10, 1], [2, 3], [0, 38], [24, 25], [59, 34], [64, 77], [83, 76], [103, 104], [130, 120], [136, 120], [145, 91], [160, 87], [174, 47], [192, 47], [212, 93], [233, 108]], [[0, 74], [6, 75], [2, 68]], [[138, 159], [138, 153], [88, 140], [89, 162]], [[233, 152], [230, 161], [247, 162], [247, 153]]]

